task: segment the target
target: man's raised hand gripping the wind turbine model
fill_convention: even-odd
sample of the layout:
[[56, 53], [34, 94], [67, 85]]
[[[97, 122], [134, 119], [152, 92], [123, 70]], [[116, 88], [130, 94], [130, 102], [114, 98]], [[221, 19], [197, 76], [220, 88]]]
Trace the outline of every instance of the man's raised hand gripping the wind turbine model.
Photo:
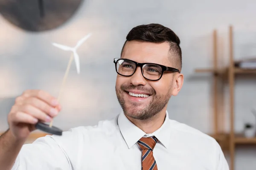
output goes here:
[[35, 130], [35, 124], [51, 122], [61, 110], [57, 99], [45, 91], [27, 90], [15, 100], [8, 115], [9, 128], [16, 139], [22, 140]]

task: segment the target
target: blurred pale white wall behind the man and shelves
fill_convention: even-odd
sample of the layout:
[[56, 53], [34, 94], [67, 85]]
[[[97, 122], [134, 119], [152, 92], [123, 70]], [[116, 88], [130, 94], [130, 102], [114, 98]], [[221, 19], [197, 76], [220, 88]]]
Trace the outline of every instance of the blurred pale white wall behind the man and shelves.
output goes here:
[[[8, 127], [6, 115], [13, 98], [25, 89], [39, 88], [58, 95], [70, 54], [51, 42], [73, 46], [90, 32], [93, 36], [78, 51], [81, 74], [76, 74], [73, 64], [61, 100], [63, 111], [54, 125], [67, 130], [117, 115], [120, 107], [114, 91], [113, 58], [119, 57], [131, 28], [160, 23], [180, 37], [183, 51], [185, 81], [180, 94], [169, 102], [170, 118], [211, 133], [212, 79], [210, 74], [195, 74], [194, 69], [212, 66], [214, 28], [218, 29], [219, 57], [227, 63], [230, 24], [235, 31], [235, 59], [256, 55], [255, 6], [254, 0], [86, 0], [64, 26], [37, 34], [22, 31], [0, 17], [0, 130]], [[236, 82], [236, 132], [242, 131], [244, 116], [255, 107], [255, 83], [255, 78], [242, 77]], [[226, 119], [226, 130], [228, 123]], [[236, 170], [255, 169], [256, 150], [252, 148], [238, 149]]]

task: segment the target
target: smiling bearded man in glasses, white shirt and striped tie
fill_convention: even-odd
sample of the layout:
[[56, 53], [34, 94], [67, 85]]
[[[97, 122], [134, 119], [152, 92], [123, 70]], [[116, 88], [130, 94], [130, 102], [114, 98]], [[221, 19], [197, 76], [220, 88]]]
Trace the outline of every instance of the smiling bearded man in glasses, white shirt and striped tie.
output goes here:
[[61, 110], [45, 91], [17, 97], [0, 137], [1, 170], [228, 170], [218, 143], [170, 120], [171, 96], [183, 85], [180, 40], [160, 24], [141, 25], [127, 35], [114, 59], [116, 96], [122, 112], [96, 126], [25, 144], [35, 123], [50, 122]]

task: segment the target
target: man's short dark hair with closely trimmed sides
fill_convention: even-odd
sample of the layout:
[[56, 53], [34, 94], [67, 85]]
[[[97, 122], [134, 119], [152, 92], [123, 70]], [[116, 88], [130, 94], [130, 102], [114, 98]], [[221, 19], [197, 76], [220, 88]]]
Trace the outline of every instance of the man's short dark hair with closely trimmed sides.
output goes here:
[[132, 40], [155, 43], [169, 42], [170, 52], [172, 54], [170, 59], [172, 62], [174, 62], [174, 66], [181, 71], [182, 53], [180, 48], [180, 39], [170, 28], [156, 23], [136, 26], [132, 28], [126, 36], [126, 41], [122, 47], [122, 52], [126, 42]]

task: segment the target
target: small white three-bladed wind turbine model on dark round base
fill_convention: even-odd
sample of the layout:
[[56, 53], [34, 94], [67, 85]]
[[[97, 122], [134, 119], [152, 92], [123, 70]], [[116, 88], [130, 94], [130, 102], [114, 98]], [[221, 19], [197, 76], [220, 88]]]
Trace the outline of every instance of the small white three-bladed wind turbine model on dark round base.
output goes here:
[[[65, 72], [65, 75], [64, 75], [64, 78], [62, 80], [62, 84], [61, 84], [61, 90], [59, 92], [59, 95], [58, 95], [58, 102], [60, 100], [60, 97], [61, 97], [61, 92], [63, 90], [63, 87], [64, 87], [64, 84], [66, 82], [66, 79], [67, 79], [67, 75], [69, 73], [69, 70], [70, 70], [70, 66], [71, 66], [71, 63], [73, 61], [73, 59], [75, 59], [75, 63], [76, 63], [76, 71], [77, 71], [77, 74], [80, 74], [80, 60], [79, 60], [79, 55], [77, 54], [76, 50], [82, 45], [82, 43], [84, 43], [85, 40], [87, 40], [89, 37], [91, 36], [91, 33], [88, 34], [87, 36], [83, 37], [81, 40], [79, 40], [77, 43], [76, 43], [76, 46], [75, 47], [68, 47], [66, 45], [61, 45], [61, 44], [57, 44], [57, 43], [52, 43], [52, 45], [54, 45], [55, 47], [58, 47], [58, 48], [61, 48], [62, 50], [64, 51], [71, 51], [72, 54], [70, 56], [70, 60], [68, 62], [68, 65], [67, 65], [67, 69], [66, 69], [66, 72]], [[62, 135], [62, 130], [59, 129], [58, 127], [54, 127], [52, 126], [52, 122], [50, 122], [49, 125], [45, 124], [45, 123], [42, 123], [42, 122], [38, 122], [35, 127], [37, 129], [40, 129], [42, 131], [45, 131], [47, 133], [51, 133], [51, 134], [55, 134], [55, 135]]]

